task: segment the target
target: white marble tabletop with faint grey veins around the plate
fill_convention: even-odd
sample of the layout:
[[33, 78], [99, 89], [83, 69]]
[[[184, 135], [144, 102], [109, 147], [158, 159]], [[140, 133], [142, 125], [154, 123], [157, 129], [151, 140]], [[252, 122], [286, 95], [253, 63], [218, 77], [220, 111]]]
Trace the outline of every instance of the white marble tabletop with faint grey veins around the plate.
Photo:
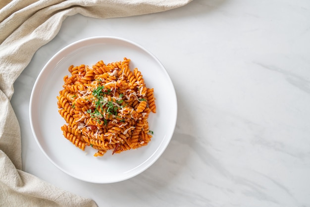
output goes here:
[[[117, 183], [65, 174], [30, 128], [35, 80], [77, 40], [116, 36], [164, 65], [178, 100], [176, 128], [159, 159]], [[14, 84], [23, 170], [106, 206], [310, 206], [310, 1], [194, 0], [142, 16], [66, 18]]]

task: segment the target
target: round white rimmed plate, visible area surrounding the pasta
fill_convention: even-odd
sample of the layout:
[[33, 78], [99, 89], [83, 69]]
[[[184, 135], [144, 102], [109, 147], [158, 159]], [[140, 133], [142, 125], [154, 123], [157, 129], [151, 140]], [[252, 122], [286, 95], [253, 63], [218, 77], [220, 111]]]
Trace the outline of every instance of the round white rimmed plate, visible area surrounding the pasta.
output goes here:
[[[96, 150], [82, 151], [66, 140], [60, 127], [56, 96], [70, 65], [90, 65], [131, 59], [148, 86], [154, 88], [156, 113], [149, 116], [154, 131], [151, 142], [142, 148], [102, 157]], [[48, 159], [60, 170], [92, 183], [113, 183], [129, 179], [150, 167], [164, 152], [173, 135], [177, 118], [177, 99], [171, 79], [159, 60], [143, 47], [115, 37], [93, 37], [77, 41], [57, 52], [39, 74], [30, 98], [30, 123], [34, 137]]]

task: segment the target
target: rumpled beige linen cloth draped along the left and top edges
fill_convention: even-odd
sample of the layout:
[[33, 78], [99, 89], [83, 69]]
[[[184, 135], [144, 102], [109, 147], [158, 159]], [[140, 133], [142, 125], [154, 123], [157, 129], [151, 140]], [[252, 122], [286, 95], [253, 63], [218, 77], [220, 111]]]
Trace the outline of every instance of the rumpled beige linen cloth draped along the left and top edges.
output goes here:
[[95, 207], [91, 199], [22, 171], [20, 127], [10, 99], [33, 54], [58, 33], [67, 16], [113, 18], [161, 12], [191, 0], [0, 1], [0, 206]]

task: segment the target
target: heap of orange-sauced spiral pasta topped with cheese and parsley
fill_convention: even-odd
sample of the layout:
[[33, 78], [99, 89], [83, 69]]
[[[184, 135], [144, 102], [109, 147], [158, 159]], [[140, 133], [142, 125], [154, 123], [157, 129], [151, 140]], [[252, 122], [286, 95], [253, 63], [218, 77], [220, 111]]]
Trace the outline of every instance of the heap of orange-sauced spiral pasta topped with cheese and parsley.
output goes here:
[[153, 132], [148, 117], [156, 113], [154, 89], [147, 88], [138, 68], [131, 71], [130, 59], [92, 67], [73, 66], [64, 76], [57, 96], [60, 115], [66, 121], [63, 136], [76, 147], [121, 153], [148, 145]]

